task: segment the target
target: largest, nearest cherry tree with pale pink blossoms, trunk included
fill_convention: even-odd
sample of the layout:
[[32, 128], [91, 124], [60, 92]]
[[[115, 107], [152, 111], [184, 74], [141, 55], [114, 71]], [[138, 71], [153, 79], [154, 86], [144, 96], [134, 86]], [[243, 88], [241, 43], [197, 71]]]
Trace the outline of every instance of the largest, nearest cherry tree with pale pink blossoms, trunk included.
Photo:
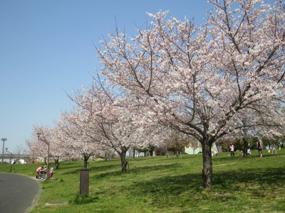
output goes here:
[[[153, 21], [138, 35], [117, 29], [96, 48], [103, 75], [135, 97], [145, 120], [202, 144], [203, 187], [213, 185], [212, 143], [257, 125], [264, 113], [281, 115], [285, 73], [282, 1], [209, 3], [213, 10], [203, 26], [160, 11], [149, 14]], [[237, 116], [248, 114], [254, 119], [241, 125]]]

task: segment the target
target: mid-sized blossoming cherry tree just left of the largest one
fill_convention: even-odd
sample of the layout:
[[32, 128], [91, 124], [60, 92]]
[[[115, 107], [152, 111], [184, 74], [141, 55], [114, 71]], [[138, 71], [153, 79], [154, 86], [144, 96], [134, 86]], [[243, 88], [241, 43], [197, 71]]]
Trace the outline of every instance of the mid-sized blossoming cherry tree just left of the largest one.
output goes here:
[[100, 140], [95, 141], [100, 146], [115, 150], [120, 155], [121, 171], [125, 173], [126, 153], [130, 147], [138, 143], [144, 146], [151, 136], [143, 126], [133, 122], [133, 112], [126, 107], [130, 99], [100, 77], [94, 78], [90, 88], [83, 88], [71, 99], [77, 104], [77, 111], [88, 118], [84, 125], [77, 123], [78, 126], [91, 138], [99, 137]]

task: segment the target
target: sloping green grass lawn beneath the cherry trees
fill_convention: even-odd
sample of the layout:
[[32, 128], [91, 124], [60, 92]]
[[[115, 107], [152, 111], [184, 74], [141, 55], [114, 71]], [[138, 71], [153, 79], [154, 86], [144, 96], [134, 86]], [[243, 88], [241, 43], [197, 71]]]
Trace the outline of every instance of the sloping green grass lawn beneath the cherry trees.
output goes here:
[[[56, 180], [40, 181], [41, 197], [31, 212], [285, 212], [285, 149], [264, 158], [256, 151], [249, 158], [227, 154], [213, 157], [214, 186], [207, 190], [202, 155], [129, 159], [126, 174], [120, 160], [90, 161], [84, 204], [75, 204], [83, 162], [62, 162]], [[37, 167], [13, 165], [12, 173], [32, 177]], [[9, 172], [9, 165], [1, 170]], [[46, 206], [51, 202], [68, 204]]]

